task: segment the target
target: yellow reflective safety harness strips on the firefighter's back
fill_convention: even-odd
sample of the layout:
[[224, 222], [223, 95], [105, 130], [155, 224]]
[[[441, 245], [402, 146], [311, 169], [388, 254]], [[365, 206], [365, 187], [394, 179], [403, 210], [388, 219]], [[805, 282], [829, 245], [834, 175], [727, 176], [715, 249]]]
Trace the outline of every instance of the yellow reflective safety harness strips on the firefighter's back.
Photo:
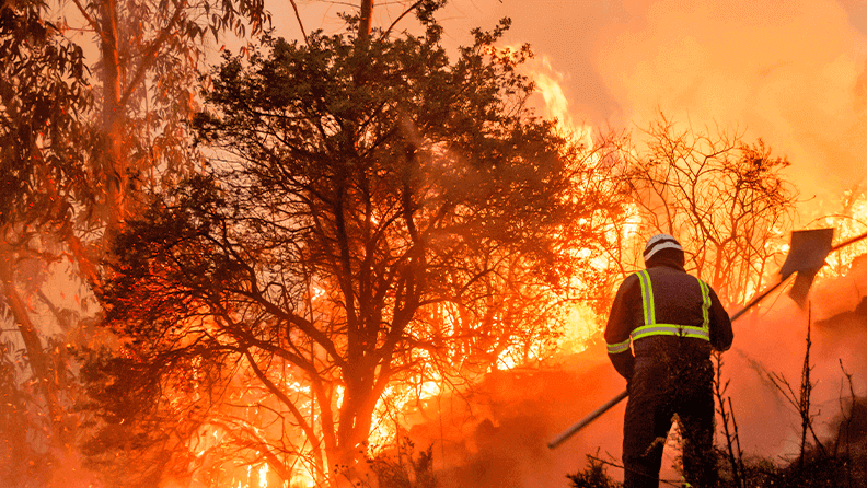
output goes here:
[[710, 288], [698, 280], [698, 287], [702, 289], [702, 317], [704, 318], [702, 326], [678, 325], [678, 324], [659, 324], [656, 321], [656, 307], [654, 306], [654, 287], [650, 284], [650, 275], [647, 269], [636, 272], [638, 281], [641, 284], [641, 309], [644, 311], [644, 325], [629, 333], [629, 338], [623, 342], [608, 345], [610, 355], [625, 352], [629, 349], [629, 344], [633, 340], [638, 340], [643, 337], [649, 336], [681, 336], [694, 337], [696, 339], [710, 340]]

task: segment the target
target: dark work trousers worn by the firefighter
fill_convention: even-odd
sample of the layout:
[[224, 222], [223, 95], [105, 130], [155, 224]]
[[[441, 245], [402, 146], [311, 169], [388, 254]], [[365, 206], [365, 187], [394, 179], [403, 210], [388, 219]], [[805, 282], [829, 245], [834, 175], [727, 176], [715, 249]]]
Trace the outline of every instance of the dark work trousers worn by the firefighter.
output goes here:
[[695, 488], [713, 488], [717, 469], [709, 346], [701, 339], [652, 336], [636, 340], [634, 348], [623, 423], [624, 488], [659, 486], [662, 448], [675, 414], [684, 477]]

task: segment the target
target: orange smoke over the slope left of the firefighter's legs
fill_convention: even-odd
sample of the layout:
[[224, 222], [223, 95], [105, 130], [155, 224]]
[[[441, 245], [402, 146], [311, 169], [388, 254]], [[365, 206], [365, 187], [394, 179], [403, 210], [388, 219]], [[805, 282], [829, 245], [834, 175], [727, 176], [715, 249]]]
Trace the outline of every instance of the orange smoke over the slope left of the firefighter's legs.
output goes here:
[[619, 462], [625, 402], [556, 450], [547, 442], [624, 388], [597, 340], [556, 364], [498, 371], [466, 394], [431, 402], [409, 437], [434, 445], [443, 488], [562, 487], [587, 454]]

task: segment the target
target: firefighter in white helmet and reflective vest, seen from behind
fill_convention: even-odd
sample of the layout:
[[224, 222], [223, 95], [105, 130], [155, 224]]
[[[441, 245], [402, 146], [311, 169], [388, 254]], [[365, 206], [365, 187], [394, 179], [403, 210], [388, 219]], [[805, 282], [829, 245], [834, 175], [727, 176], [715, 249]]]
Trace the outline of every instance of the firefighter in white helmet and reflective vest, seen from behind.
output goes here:
[[668, 234], [647, 241], [647, 269], [627, 277], [614, 298], [605, 342], [626, 379], [623, 422], [624, 487], [658, 487], [662, 448], [677, 420], [683, 474], [693, 487], [716, 485], [712, 350], [733, 338], [731, 321], [707, 283], [689, 275], [680, 243]]

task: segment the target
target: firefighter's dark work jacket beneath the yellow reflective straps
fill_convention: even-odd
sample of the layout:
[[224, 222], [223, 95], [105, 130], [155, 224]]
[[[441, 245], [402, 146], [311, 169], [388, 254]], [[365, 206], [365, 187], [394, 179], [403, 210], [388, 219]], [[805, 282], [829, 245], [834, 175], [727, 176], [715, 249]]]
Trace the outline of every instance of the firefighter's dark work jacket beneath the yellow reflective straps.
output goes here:
[[[656, 322], [658, 324], [675, 324], [701, 327], [704, 322], [701, 286], [698, 280], [687, 274], [679, 264], [662, 259], [649, 263], [647, 271], [654, 289], [654, 305], [656, 307]], [[632, 349], [623, 352], [609, 353], [611, 362], [617, 372], [629, 380], [633, 375], [635, 358], [649, 355], [652, 349], [660, 346], [678, 347], [687, 345], [698, 356], [709, 357], [712, 349], [728, 350], [731, 347], [733, 334], [731, 321], [719, 298], [710, 287], [709, 332], [710, 341], [692, 337], [678, 336], [649, 336], [639, 338], [632, 344]], [[645, 325], [644, 304], [641, 301], [641, 286], [637, 275], [627, 277], [614, 297], [611, 306], [608, 326], [605, 327], [605, 342], [609, 345], [622, 344], [629, 339], [629, 334]], [[633, 353], [634, 351], [634, 353]]]

